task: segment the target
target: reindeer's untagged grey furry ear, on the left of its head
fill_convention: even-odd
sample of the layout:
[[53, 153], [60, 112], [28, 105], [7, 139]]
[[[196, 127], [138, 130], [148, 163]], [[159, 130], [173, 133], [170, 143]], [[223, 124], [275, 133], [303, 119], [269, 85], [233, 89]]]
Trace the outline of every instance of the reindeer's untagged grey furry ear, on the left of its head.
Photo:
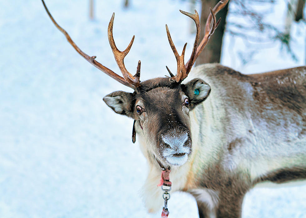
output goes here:
[[117, 114], [133, 116], [131, 109], [132, 93], [116, 91], [106, 95], [103, 101]]

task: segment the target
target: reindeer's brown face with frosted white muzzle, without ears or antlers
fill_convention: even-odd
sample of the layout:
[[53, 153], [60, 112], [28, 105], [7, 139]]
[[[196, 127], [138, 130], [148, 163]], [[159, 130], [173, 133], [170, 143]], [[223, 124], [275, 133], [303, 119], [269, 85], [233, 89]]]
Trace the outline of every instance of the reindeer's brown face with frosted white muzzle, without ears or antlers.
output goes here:
[[136, 99], [136, 113], [155, 157], [182, 165], [191, 152], [189, 99], [180, 89], [158, 87]]

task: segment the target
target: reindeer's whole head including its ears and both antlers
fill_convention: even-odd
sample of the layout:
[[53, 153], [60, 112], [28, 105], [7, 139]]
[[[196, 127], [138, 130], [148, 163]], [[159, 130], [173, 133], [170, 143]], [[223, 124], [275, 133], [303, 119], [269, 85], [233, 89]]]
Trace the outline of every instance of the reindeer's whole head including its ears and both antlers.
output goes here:
[[140, 81], [140, 61], [134, 76], [126, 70], [124, 65], [124, 57], [130, 51], [135, 36], [133, 36], [129, 46], [124, 51], [119, 51], [115, 45], [112, 33], [114, 13], [108, 26], [108, 40], [123, 77], [97, 62], [95, 60], [96, 56], [88, 56], [81, 51], [68, 33], [55, 22], [43, 0], [42, 3], [52, 22], [62, 31], [69, 43], [81, 56], [121, 84], [134, 89], [133, 93], [116, 91], [103, 98], [105, 103], [117, 114], [126, 115], [134, 119], [133, 142], [136, 140], [137, 131], [146, 141], [149, 155], [155, 158], [160, 165], [180, 166], [188, 160], [188, 156], [192, 151], [189, 112], [197, 104], [203, 102], [210, 93], [210, 86], [199, 78], [193, 79], [187, 84], [181, 84], [181, 82], [188, 76], [196, 58], [218, 26], [220, 19], [216, 22], [215, 14], [225, 7], [228, 1], [220, 1], [214, 9], [210, 8], [210, 16], [205, 26], [205, 35], [200, 44], [198, 13], [195, 11], [195, 14], [191, 14], [180, 10], [181, 13], [192, 18], [196, 24], [196, 37], [189, 61], [187, 64], [184, 63], [187, 43], [183, 48], [182, 54], [179, 55], [166, 25], [168, 40], [177, 61], [176, 75], [174, 76], [167, 67], [170, 77], [155, 78], [143, 82]]

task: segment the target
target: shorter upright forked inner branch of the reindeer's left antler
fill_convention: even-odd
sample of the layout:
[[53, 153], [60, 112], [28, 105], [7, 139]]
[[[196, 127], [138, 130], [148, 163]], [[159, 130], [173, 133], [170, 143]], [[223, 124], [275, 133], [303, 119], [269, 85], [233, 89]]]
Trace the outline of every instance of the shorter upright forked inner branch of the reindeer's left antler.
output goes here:
[[[129, 71], [126, 70], [126, 67], [124, 65], [124, 58], [129, 53], [129, 51], [130, 51], [130, 49], [133, 45], [135, 35], [133, 36], [133, 38], [132, 38], [130, 44], [127, 46], [126, 50], [119, 51], [119, 49], [117, 48], [117, 46], [115, 44], [114, 37], [113, 37], [114, 17], [115, 17], [115, 13], [113, 13], [113, 15], [111, 16], [111, 20], [108, 24], [108, 30], [107, 30], [108, 41], [109, 41], [109, 44], [111, 46], [111, 50], [113, 51], [115, 60], [117, 62], [117, 65], [118, 65], [119, 69], [121, 70], [121, 73], [122, 73], [124, 79], [126, 79], [126, 81], [128, 81], [132, 85], [138, 87], [138, 86], [140, 86], [140, 78], [137, 77], [137, 73], [136, 73], [135, 76], [131, 75], [129, 73]], [[140, 71], [140, 64], [138, 64], [138, 66], [139, 66], [139, 71]]]

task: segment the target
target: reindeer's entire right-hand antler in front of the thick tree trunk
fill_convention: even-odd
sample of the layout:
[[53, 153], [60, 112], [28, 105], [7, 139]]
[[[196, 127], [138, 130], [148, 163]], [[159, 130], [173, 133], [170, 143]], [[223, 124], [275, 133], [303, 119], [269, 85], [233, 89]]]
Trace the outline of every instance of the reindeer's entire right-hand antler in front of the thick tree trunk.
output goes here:
[[204, 49], [205, 45], [209, 41], [210, 36], [214, 33], [215, 29], [218, 27], [218, 25], [220, 23], [221, 18], [218, 20], [218, 22], [216, 22], [216, 16], [215, 15], [222, 8], [225, 7], [225, 5], [227, 4], [228, 1], [229, 0], [220, 1], [215, 5], [215, 7], [213, 9], [210, 8], [210, 15], [208, 16], [207, 21], [206, 21], [206, 25], [205, 25], [205, 35], [204, 35], [202, 41], [200, 42], [199, 46], [198, 46], [198, 43], [199, 43], [199, 38], [200, 38], [200, 18], [199, 18], [198, 12], [195, 10], [195, 14], [191, 14], [191, 13], [184, 12], [184, 11], [180, 10], [180, 12], [182, 14], [185, 14], [186, 16], [193, 19], [195, 21], [195, 25], [196, 25], [195, 42], [193, 44], [193, 49], [192, 49], [190, 59], [186, 63], [186, 65], [184, 64], [184, 55], [185, 55], [185, 49], [186, 49], [187, 43], [184, 45], [182, 55], [179, 56], [177, 51], [176, 51], [176, 48], [173, 44], [173, 41], [171, 39], [168, 27], [166, 25], [168, 40], [169, 40], [170, 46], [172, 48], [172, 51], [173, 51], [173, 53], [175, 55], [175, 58], [176, 58], [176, 61], [177, 61], [177, 72], [176, 72], [175, 78], [174, 78], [173, 74], [170, 72], [170, 70], [167, 66], [166, 66], [166, 68], [169, 71], [172, 79], [175, 79], [176, 82], [183, 81], [188, 76], [188, 74], [191, 70], [191, 67], [195, 63], [195, 60], [200, 55], [201, 51]]

